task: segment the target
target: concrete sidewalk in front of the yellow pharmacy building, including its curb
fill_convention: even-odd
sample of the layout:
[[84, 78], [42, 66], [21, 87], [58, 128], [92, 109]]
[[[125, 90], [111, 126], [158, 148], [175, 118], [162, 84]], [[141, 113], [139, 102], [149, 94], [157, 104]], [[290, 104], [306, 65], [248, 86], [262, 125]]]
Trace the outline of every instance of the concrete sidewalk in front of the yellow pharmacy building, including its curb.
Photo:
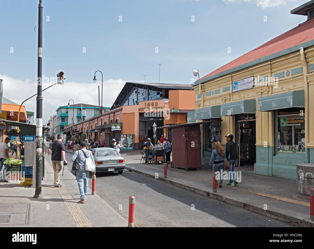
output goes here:
[[217, 192], [213, 192], [213, 173], [210, 166], [191, 171], [171, 169], [169, 166], [165, 179], [163, 164], [139, 164], [140, 151], [124, 152], [122, 156], [126, 161], [126, 169], [130, 171], [153, 178], [156, 178], [156, 173], [158, 173], [158, 180], [192, 192], [279, 219], [291, 225], [314, 227], [314, 222], [310, 220], [310, 198], [297, 192], [296, 181], [241, 172], [239, 184], [228, 187], [226, 184], [229, 180], [224, 180], [222, 188], [217, 187]]

